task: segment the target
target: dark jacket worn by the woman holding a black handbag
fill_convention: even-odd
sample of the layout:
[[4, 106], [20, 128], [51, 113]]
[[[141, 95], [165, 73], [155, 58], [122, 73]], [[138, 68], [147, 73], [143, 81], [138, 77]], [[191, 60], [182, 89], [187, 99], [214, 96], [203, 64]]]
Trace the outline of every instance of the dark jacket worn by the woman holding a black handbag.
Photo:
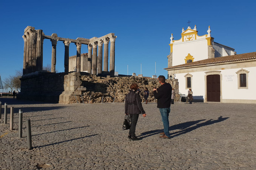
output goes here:
[[130, 93], [125, 96], [125, 114], [145, 114], [141, 104], [140, 95], [135, 91], [130, 90]]

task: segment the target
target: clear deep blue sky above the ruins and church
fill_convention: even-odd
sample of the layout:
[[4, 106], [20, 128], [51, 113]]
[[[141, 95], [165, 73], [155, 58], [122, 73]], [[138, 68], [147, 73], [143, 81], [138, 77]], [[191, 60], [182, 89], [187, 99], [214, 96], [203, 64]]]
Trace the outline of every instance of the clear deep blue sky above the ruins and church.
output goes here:
[[[256, 1], [1, 1], [0, 75], [2, 81], [23, 67], [22, 35], [29, 25], [45, 35], [101, 37], [115, 33], [116, 71], [146, 77], [167, 75], [170, 37], [197, 26], [199, 36], [209, 25], [214, 41], [235, 48], [237, 54], [255, 52]], [[51, 64], [51, 41], [44, 40], [43, 65]], [[82, 45], [82, 53], [87, 46]], [[76, 55], [70, 44], [69, 55]], [[64, 71], [64, 45], [57, 44], [57, 65]]]

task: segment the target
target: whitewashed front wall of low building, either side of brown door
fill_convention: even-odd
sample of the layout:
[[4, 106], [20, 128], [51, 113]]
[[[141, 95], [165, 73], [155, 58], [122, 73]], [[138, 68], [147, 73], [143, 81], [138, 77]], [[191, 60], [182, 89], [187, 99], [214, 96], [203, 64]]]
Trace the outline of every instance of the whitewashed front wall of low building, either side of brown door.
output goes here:
[[[221, 86], [222, 86], [222, 99], [238, 99], [238, 100], [256, 100], [256, 67], [244, 67], [244, 70], [249, 71], [248, 77], [248, 89], [238, 89], [238, 80], [236, 72], [238, 69], [227, 69], [219, 70], [222, 74]], [[179, 92], [181, 94], [188, 94], [186, 89], [186, 78], [184, 77], [187, 73], [175, 74], [175, 79], [179, 81]], [[205, 71], [189, 73], [193, 75], [191, 82], [191, 89], [194, 96], [205, 97]]]

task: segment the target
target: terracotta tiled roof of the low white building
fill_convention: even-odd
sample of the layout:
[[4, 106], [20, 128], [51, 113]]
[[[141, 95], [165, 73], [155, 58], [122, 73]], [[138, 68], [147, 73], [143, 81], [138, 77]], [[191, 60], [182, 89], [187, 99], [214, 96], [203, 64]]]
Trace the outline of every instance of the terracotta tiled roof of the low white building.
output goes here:
[[178, 68], [182, 68], [182, 67], [198, 66], [198, 65], [231, 63], [231, 62], [238, 62], [238, 61], [245, 61], [245, 60], [256, 60], [256, 52], [237, 54], [237, 55], [229, 55], [229, 56], [225, 56], [225, 57], [208, 58], [205, 60], [200, 60], [200, 61], [196, 61], [196, 62], [192, 62], [192, 63], [186, 63], [186, 64], [181, 64], [181, 65], [175, 65], [172, 67], [167, 67], [167, 68], [165, 68], [165, 70], [178, 69]]

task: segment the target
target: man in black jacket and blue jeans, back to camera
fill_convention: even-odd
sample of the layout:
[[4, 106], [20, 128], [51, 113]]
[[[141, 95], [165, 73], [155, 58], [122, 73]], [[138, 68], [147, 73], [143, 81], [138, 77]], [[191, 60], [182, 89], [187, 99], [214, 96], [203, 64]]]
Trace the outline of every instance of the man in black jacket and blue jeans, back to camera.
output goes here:
[[164, 124], [164, 132], [160, 133], [163, 134], [160, 138], [170, 139], [169, 113], [171, 112], [172, 86], [165, 82], [165, 77], [163, 75], [159, 75], [158, 81], [161, 86], [158, 89], [154, 88], [153, 90], [154, 96], [157, 99], [157, 108], [159, 108]]

